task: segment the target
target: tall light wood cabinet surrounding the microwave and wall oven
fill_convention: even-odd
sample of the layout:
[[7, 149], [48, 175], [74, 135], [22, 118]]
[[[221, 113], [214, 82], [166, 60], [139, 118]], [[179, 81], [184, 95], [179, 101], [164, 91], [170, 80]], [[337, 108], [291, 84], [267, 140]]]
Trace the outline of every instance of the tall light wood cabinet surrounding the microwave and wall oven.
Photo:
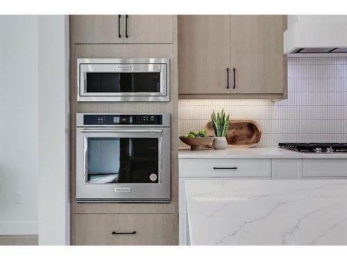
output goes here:
[[[178, 51], [176, 15], [72, 15], [70, 26], [70, 182], [72, 245], [178, 244]], [[119, 26], [118, 26], [119, 23]], [[126, 31], [127, 30], [127, 31]], [[125, 37], [125, 33], [128, 37]], [[119, 37], [119, 34], [121, 37]], [[169, 58], [169, 102], [76, 101], [77, 58]], [[171, 114], [170, 203], [76, 203], [76, 113]], [[112, 234], [133, 232], [135, 234]]]

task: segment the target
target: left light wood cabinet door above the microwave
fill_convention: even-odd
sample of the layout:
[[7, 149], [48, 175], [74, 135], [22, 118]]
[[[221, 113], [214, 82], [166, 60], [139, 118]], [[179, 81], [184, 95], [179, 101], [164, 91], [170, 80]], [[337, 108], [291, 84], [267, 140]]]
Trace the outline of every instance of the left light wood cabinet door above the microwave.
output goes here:
[[[71, 15], [76, 44], [122, 43], [124, 15]], [[119, 37], [120, 36], [120, 37]]]

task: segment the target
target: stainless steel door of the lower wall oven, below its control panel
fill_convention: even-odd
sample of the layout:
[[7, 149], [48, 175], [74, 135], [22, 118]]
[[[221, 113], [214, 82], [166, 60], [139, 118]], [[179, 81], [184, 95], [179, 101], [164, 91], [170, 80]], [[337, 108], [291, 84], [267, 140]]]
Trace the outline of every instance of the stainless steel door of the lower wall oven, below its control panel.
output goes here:
[[77, 128], [77, 202], [169, 202], [169, 128]]

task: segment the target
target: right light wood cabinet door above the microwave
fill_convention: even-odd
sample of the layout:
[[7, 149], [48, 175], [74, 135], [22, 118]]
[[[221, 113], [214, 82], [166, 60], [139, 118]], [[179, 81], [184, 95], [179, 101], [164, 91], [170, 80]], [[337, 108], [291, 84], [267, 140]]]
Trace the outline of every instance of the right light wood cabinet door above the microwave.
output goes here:
[[124, 15], [124, 43], [172, 43], [172, 19], [172, 15]]

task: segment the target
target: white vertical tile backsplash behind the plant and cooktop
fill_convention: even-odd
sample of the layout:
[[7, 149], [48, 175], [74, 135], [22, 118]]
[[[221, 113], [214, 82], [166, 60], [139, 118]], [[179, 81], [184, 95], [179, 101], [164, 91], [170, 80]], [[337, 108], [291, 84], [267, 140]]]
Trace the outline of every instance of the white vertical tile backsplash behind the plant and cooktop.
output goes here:
[[260, 123], [258, 147], [282, 141], [347, 142], [347, 58], [289, 58], [285, 101], [179, 100], [179, 134], [203, 128], [212, 110], [222, 108], [233, 119]]

